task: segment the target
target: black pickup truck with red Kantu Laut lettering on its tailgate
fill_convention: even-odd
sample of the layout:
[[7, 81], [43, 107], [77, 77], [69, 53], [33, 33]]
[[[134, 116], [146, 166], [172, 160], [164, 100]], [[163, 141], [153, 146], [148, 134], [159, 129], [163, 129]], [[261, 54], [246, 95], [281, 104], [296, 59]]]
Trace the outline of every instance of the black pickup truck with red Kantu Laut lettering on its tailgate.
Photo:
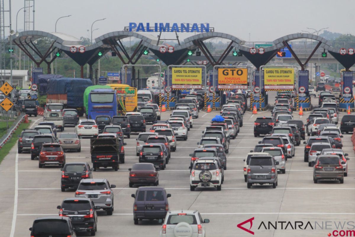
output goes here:
[[[124, 145], [125, 143], [122, 143], [118, 138], [91, 139], [90, 153], [94, 171], [99, 167], [112, 167], [117, 171], [119, 169], [120, 160], [121, 163], [124, 163]], [[123, 157], [121, 153], [123, 153]]]

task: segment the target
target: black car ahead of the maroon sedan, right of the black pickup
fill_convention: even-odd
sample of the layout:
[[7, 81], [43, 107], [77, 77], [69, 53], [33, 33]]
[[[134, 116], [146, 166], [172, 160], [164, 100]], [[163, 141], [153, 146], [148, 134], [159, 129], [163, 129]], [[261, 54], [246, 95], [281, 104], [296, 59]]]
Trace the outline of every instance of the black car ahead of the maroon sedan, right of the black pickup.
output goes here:
[[145, 163], [153, 163], [155, 167], [165, 169], [166, 167], [166, 155], [164, 153], [163, 145], [160, 144], [148, 144], [143, 145], [140, 151], [138, 161]]

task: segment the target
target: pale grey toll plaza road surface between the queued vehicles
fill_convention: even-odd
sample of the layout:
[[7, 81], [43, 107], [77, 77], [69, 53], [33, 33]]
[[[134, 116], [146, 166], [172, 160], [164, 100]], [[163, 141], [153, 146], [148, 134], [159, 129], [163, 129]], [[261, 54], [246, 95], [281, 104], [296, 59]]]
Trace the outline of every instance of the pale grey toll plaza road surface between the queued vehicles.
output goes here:
[[[272, 97], [272, 96], [270, 96]], [[317, 104], [318, 98], [312, 98]], [[270, 102], [273, 100], [270, 99]], [[304, 112], [302, 120], [306, 120], [310, 112]], [[278, 187], [257, 185], [247, 189], [242, 172], [243, 159], [246, 154], [261, 140], [253, 136], [253, 123], [258, 115], [270, 115], [269, 111], [253, 115], [246, 112], [244, 126], [235, 140], [231, 140], [228, 154], [228, 169], [225, 171], [222, 191], [189, 189], [189, 153], [197, 146], [202, 130], [219, 112], [200, 112], [200, 118], [193, 119], [193, 128], [187, 141], [178, 141], [176, 152], [171, 153], [171, 159], [164, 171], [159, 171], [159, 186], [171, 193], [169, 205], [171, 210], [198, 210], [202, 218], [210, 219], [205, 224], [207, 236], [251, 236], [237, 227], [237, 224], [254, 217], [251, 231], [255, 236], [327, 236], [336, 229], [335, 223], [355, 221], [355, 155], [349, 134], [344, 135], [344, 151], [349, 153], [350, 161], [348, 177], [344, 184], [333, 181], [322, 181], [314, 184], [312, 180], [313, 167], [303, 162], [304, 144], [296, 147], [295, 157], [286, 162], [286, 174], [278, 175]], [[340, 114], [340, 119], [344, 113]], [[167, 119], [169, 112], [162, 115]], [[294, 112], [294, 118], [299, 118]], [[41, 117], [31, 118], [38, 123]], [[37, 119], [37, 120], [36, 120]], [[340, 121], [339, 119], [339, 121]], [[148, 129], [147, 129], [148, 130]], [[74, 132], [74, 128], [66, 127], [65, 132]], [[128, 168], [138, 162], [136, 156], [136, 138], [138, 134], [125, 139], [125, 164], [119, 171], [100, 170], [93, 173], [94, 178], [107, 178], [110, 184], [115, 184], [115, 210], [112, 216], [104, 211], [98, 211], [97, 236], [159, 236], [161, 224], [155, 221], [143, 221], [140, 225], [133, 224], [133, 198], [136, 188], [128, 187]], [[66, 161], [86, 161], [91, 165], [89, 139], [82, 139], [80, 153], [67, 152]], [[29, 236], [29, 227], [33, 220], [43, 215], [58, 215], [57, 205], [62, 199], [74, 195], [74, 190], [61, 192], [60, 168], [38, 168], [38, 161], [31, 161], [29, 153], [17, 154], [15, 146], [0, 165], [0, 236]], [[14, 210], [15, 209], [15, 210]], [[295, 221], [302, 221], [304, 228], [310, 221], [313, 230], [298, 226], [293, 230], [288, 226], [277, 230], [268, 230], [264, 226], [258, 228], [261, 222], [268, 227], [268, 221], [290, 221], [295, 228]], [[315, 226], [315, 221], [318, 226]], [[326, 225], [326, 221], [327, 225]], [[335, 223], [334, 223], [335, 221]], [[298, 223], [299, 225], [300, 223]], [[283, 228], [285, 229], [283, 224]], [[323, 225], [323, 230], [320, 227]], [[246, 229], [250, 224], [243, 225]], [[327, 229], [326, 229], [327, 228]], [[345, 229], [346, 227], [344, 227]], [[89, 235], [88, 233], [78, 236]]]

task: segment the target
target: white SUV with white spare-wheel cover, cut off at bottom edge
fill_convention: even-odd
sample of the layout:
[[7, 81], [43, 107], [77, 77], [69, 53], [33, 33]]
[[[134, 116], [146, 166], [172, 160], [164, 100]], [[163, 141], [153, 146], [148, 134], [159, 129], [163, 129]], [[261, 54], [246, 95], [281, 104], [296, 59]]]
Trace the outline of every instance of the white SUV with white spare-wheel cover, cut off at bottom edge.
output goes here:
[[209, 219], [202, 220], [201, 214], [197, 210], [168, 211], [159, 236], [205, 237], [206, 229], [203, 223], [209, 223]]

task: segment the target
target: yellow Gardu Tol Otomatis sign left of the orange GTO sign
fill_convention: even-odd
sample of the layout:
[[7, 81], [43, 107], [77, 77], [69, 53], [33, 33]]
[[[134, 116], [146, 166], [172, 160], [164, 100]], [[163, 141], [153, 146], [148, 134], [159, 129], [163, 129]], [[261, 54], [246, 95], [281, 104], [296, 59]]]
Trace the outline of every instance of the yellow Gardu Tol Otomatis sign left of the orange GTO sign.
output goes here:
[[172, 84], [201, 85], [202, 68], [172, 68]]

